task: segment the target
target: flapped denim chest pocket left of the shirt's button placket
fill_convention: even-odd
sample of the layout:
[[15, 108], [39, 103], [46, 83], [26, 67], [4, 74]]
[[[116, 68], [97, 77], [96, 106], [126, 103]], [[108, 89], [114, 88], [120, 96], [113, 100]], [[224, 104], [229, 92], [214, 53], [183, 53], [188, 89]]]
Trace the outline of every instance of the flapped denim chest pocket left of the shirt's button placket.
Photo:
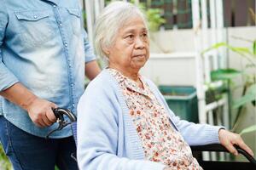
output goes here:
[[20, 27], [20, 38], [23, 45], [36, 47], [54, 37], [47, 11], [15, 12]]

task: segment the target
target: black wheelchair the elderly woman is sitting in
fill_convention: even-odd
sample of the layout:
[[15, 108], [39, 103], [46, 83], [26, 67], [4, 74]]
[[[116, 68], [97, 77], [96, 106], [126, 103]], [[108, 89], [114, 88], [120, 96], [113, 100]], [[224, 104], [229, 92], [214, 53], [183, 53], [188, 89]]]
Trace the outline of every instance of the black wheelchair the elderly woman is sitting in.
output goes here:
[[[53, 131], [49, 132], [46, 138], [55, 131], [61, 130], [67, 125], [71, 125], [73, 138], [77, 144], [77, 118], [73, 115], [71, 111], [67, 109], [57, 108], [53, 110], [57, 118], [56, 122], [59, 126]], [[201, 151], [215, 151], [215, 152], [228, 152], [221, 144], [207, 144], [200, 146], [190, 146], [193, 153]], [[203, 161], [201, 156], [196, 155], [195, 158], [204, 170], [256, 170], [256, 160], [253, 156], [249, 155], [245, 150], [242, 150], [239, 146], [235, 146], [238, 153], [247, 158], [247, 162], [241, 161]], [[76, 156], [72, 155], [73, 159], [76, 160]]]

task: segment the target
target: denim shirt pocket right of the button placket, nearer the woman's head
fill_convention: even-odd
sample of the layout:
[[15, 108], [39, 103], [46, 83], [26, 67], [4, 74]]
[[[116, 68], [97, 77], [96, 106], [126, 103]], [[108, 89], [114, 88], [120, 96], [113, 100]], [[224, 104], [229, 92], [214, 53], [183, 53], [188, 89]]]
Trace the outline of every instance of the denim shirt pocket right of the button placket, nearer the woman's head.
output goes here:
[[81, 35], [81, 12], [79, 8], [67, 8], [68, 14], [70, 14], [69, 23], [72, 26], [73, 34], [76, 36]]

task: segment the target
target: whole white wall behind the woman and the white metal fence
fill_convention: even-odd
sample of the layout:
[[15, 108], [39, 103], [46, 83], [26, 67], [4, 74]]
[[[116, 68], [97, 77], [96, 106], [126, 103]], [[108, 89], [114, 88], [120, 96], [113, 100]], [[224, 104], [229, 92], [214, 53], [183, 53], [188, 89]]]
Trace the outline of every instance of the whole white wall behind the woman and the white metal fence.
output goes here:
[[[228, 28], [226, 32], [227, 39], [233, 46], [242, 47], [247, 42], [232, 36], [251, 40], [256, 38], [255, 26]], [[195, 86], [194, 32], [189, 29], [160, 31], [151, 34], [151, 37], [154, 41], [150, 42], [150, 58], [143, 67], [142, 74], [159, 84]], [[159, 47], [168, 53], [156, 54], [160, 53]], [[228, 65], [240, 70], [245, 61], [230, 52]]]

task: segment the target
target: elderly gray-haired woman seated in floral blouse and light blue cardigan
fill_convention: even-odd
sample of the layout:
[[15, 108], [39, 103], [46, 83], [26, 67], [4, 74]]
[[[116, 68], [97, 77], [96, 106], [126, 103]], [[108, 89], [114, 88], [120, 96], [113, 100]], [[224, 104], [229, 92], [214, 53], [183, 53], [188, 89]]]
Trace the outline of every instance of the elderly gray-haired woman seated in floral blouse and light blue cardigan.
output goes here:
[[82, 170], [201, 169], [189, 144], [232, 144], [252, 153], [222, 127], [180, 120], [153, 82], [139, 74], [149, 56], [148, 27], [131, 3], [111, 3], [96, 20], [96, 52], [108, 67], [90, 82], [78, 107]]

